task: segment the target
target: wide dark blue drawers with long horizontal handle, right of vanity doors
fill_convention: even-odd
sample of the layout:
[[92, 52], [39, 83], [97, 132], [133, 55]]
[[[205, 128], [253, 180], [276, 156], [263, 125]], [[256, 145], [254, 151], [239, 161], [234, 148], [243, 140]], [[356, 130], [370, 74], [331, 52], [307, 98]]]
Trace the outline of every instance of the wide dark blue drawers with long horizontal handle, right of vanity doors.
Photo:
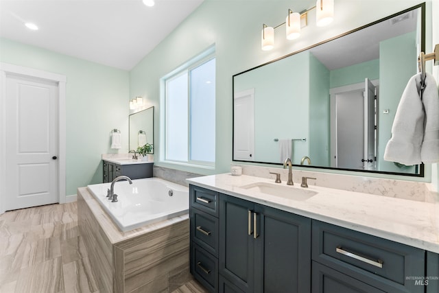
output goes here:
[[313, 293], [425, 292], [414, 280], [425, 276], [425, 250], [317, 220], [312, 233]]

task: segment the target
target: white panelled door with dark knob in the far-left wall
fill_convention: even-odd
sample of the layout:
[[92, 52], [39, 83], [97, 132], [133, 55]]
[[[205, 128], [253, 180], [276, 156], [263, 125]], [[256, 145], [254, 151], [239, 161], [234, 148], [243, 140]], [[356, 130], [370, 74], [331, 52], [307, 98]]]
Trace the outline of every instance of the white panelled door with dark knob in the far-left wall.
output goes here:
[[5, 210], [58, 202], [58, 84], [6, 76]]

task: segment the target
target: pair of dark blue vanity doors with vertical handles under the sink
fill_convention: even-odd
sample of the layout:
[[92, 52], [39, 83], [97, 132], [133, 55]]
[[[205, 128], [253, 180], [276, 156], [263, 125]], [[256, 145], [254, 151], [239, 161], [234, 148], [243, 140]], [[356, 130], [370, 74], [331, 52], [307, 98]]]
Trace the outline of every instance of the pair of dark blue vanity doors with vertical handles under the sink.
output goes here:
[[221, 194], [220, 289], [306, 293], [310, 272], [309, 218]]

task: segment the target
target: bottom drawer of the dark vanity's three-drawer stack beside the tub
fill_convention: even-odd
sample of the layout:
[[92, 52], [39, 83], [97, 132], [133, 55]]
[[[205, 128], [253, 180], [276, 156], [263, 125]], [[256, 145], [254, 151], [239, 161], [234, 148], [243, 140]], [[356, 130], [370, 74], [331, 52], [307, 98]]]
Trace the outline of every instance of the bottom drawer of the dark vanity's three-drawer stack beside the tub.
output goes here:
[[194, 242], [191, 242], [191, 274], [209, 292], [217, 292], [218, 259]]

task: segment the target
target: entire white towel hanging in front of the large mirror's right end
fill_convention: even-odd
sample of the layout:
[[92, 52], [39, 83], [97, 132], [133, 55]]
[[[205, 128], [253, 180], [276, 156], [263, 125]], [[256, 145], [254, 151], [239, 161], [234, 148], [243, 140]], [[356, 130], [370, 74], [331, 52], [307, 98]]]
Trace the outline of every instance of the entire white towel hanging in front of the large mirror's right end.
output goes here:
[[427, 73], [421, 100], [420, 82], [418, 73], [405, 86], [396, 109], [392, 138], [385, 146], [385, 161], [417, 165], [439, 159], [438, 88]]

